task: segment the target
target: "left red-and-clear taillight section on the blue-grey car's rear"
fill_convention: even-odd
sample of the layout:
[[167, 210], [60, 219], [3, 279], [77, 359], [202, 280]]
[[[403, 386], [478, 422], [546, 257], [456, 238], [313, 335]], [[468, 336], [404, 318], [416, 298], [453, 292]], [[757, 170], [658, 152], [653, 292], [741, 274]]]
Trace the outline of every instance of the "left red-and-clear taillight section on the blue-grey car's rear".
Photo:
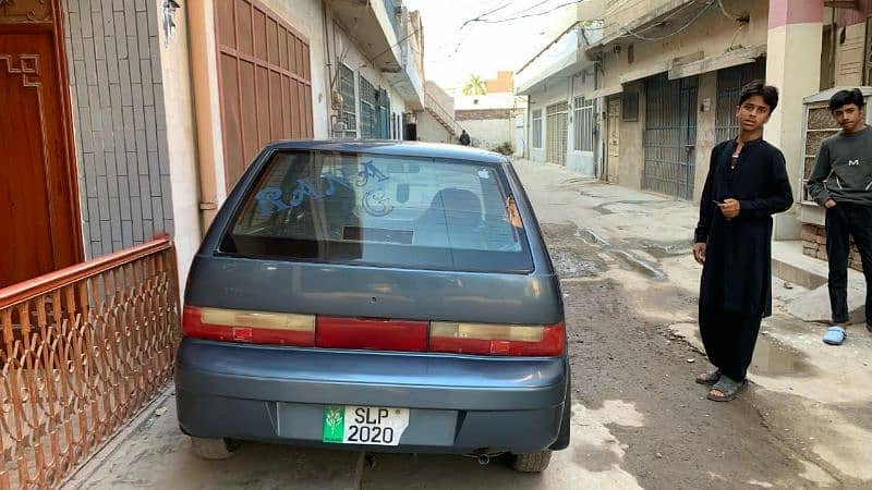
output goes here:
[[187, 336], [253, 344], [315, 345], [315, 316], [184, 307]]

